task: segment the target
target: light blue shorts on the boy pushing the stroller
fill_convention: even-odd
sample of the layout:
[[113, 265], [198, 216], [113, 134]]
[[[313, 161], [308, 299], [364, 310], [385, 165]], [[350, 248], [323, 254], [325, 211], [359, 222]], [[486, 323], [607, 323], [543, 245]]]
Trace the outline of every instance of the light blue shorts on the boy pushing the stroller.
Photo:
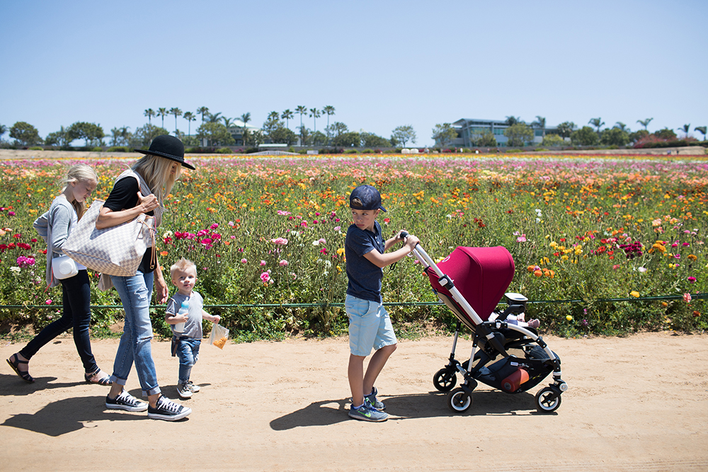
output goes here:
[[344, 307], [349, 316], [349, 350], [366, 357], [372, 348], [396, 344], [396, 334], [383, 304], [347, 295]]

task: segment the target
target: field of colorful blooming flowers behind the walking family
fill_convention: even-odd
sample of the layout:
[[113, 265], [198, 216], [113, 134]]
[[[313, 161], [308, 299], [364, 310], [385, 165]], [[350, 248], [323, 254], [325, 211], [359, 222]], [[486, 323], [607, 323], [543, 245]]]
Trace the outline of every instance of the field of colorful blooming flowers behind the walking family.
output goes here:
[[[619, 156], [302, 156], [188, 159], [159, 228], [169, 270], [184, 256], [211, 313], [240, 339], [346, 330], [348, 193], [369, 183], [389, 210], [384, 234], [406, 229], [434, 258], [456, 246], [505, 246], [508, 291], [559, 335], [708, 326], [708, 160]], [[0, 186], [0, 321], [40, 328], [57, 316], [46, 246], [32, 228], [79, 160], [4, 161]], [[105, 199], [125, 161], [94, 161]], [[414, 258], [384, 269], [394, 326], [450, 326]], [[428, 304], [421, 305], [421, 302]], [[93, 304], [120, 304], [93, 288]], [[267, 306], [262, 306], [262, 305]], [[44, 306], [50, 306], [49, 309]], [[119, 309], [96, 309], [107, 330]], [[169, 330], [154, 310], [158, 333]]]

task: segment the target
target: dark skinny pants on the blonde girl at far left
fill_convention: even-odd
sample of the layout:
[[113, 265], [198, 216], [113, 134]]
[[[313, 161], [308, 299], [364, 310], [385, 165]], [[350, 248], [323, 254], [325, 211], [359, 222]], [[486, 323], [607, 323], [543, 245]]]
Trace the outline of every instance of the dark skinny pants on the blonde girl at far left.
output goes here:
[[91, 285], [89, 272], [79, 270], [74, 277], [61, 280], [62, 303], [64, 313], [57, 321], [52, 321], [40, 331], [21, 351], [20, 354], [31, 359], [40, 348], [49, 343], [58, 335], [69, 328], [74, 328], [74, 344], [79, 352], [81, 362], [84, 363], [86, 372], [95, 372], [98, 369], [96, 359], [91, 352], [91, 339], [89, 338], [89, 323], [91, 323]]

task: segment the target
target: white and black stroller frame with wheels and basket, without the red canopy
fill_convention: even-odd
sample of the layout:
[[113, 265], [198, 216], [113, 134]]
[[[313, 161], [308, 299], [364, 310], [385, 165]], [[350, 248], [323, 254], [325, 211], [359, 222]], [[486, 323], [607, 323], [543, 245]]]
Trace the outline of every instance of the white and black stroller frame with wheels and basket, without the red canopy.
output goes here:
[[[430, 270], [438, 277], [438, 283], [449, 292], [450, 296], [448, 297], [447, 294], [435, 290], [433, 287], [438, 298], [458, 318], [448, 363], [433, 376], [433, 385], [438, 391], [450, 391], [447, 396], [448, 408], [455, 413], [466, 411], [472, 405], [472, 391], [476, 388], [478, 381], [494, 388], [500, 388], [506, 393], [520, 393], [539, 384], [551, 372], [553, 373], [553, 382], [538, 391], [535, 396], [535, 405], [540, 413], [551, 413], [559, 408], [561, 393], [568, 389], [568, 384], [561, 379], [559, 357], [549, 348], [535, 329], [506, 321], [506, 317], [510, 314], [524, 313], [528, 299], [522, 294], [506, 293], [505, 298], [508, 304], [506, 310], [501, 313], [493, 311], [492, 315], [496, 316], [489, 316], [489, 319], [484, 321], [455, 287], [455, 282], [440, 270], [440, 267], [420, 244], [413, 249], [413, 255], [425, 267], [431, 282], [433, 277], [430, 275]], [[459, 330], [463, 323], [472, 330], [474, 339], [469, 359], [460, 363], [455, 359], [455, 349]], [[508, 353], [510, 349], [523, 350], [525, 358], [510, 355]], [[500, 361], [489, 364], [498, 356], [501, 356]], [[488, 364], [489, 367], [487, 367]], [[490, 369], [497, 370], [491, 372]], [[521, 380], [520, 384], [518, 379], [509, 381], [522, 370], [524, 373], [528, 372], [525, 380]], [[507, 375], [504, 372], [511, 373], [506, 379], [500, 381], [500, 376]], [[459, 388], [453, 390], [457, 374], [460, 374], [464, 380]]]

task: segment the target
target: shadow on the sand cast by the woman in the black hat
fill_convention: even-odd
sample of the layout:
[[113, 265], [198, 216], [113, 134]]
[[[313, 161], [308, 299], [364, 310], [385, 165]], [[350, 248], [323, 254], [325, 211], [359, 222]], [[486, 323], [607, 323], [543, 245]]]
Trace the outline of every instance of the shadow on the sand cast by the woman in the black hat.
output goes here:
[[[141, 391], [137, 389], [131, 394], [139, 396], [140, 393]], [[16, 427], [57, 437], [85, 427], [96, 427], [91, 425], [95, 421], [135, 421], [145, 418], [144, 414], [106, 410], [105, 395], [99, 395], [64, 398], [49, 403], [37, 413], [13, 415], [0, 426]]]

